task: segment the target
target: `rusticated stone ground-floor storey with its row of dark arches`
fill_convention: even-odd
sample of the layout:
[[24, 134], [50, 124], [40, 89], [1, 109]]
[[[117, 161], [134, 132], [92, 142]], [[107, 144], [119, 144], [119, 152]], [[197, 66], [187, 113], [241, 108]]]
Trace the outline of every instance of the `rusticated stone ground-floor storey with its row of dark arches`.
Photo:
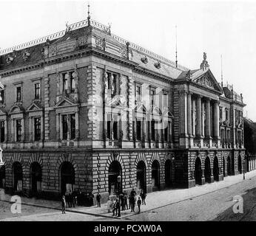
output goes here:
[[[92, 160], [92, 169], [86, 171], [84, 162], [87, 162], [87, 159], [81, 159], [80, 164], [78, 159], [62, 159], [61, 162], [54, 162], [59, 163], [57, 167], [45, 165], [44, 161], [26, 162], [23, 159], [23, 162], [11, 162], [0, 168], [0, 187], [5, 187], [5, 190], [9, 187], [17, 193], [25, 191], [33, 196], [44, 197], [44, 193], [49, 191], [48, 186], [51, 186], [56, 198], [73, 190], [83, 190], [86, 193], [99, 191], [103, 201], [107, 201], [109, 195], [124, 190], [129, 193], [132, 188], [138, 192], [152, 192], [169, 187], [193, 187], [195, 184], [221, 181], [225, 176], [243, 172], [244, 156], [239, 153], [197, 153], [194, 150], [187, 156], [183, 153], [181, 156], [178, 156], [179, 153], [172, 153], [170, 158], [166, 158], [164, 153], [159, 156], [147, 154], [138, 161], [135, 155], [129, 158], [127, 154], [123, 154], [110, 161], [110, 154], [106, 152], [104, 158]], [[186, 178], [186, 181], [182, 179], [184, 172], [178, 169], [188, 163], [183, 162], [184, 158], [189, 159], [191, 171], [189, 180]], [[86, 166], [89, 168], [90, 162], [87, 162]], [[93, 171], [93, 174], [90, 171]], [[179, 185], [180, 180], [185, 184]], [[192, 181], [191, 185], [189, 181]]]

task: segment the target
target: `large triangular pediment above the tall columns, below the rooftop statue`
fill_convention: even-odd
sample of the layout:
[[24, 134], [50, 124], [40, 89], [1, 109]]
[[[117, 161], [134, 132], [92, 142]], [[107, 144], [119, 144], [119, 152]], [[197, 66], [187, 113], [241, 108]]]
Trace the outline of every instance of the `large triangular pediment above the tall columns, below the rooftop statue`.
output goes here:
[[214, 89], [223, 93], [223, 90], [221, 89], [218, 81], [215, 79], [210, 69], [198, 70], [197, 72], [195, 72], [195, 74], [192, 74], [192, 81], [206, 88]]

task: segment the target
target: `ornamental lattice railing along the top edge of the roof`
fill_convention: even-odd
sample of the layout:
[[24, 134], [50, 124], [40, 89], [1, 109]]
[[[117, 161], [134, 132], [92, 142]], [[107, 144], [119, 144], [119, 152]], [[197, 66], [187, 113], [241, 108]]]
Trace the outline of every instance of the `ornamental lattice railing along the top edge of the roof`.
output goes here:
[[[104, 30], [105, 32], [109, 32], [109, 29], [110, 29], [109, 27], [105, 26], [104, 24], [101, 24], [101, 23], [99, 23], [97, 21], [94, 21], [94, 20], [90, 20], [90, 25], [93, 26], [93, 27], [98, 28], [99, 30]], [[88, 20], [79, 21], [79, 22], [76, 22], [74, 24], [70, 24], [68, 27], [69, 27], [69, 30], [77, 30], [79, 28], [86, 27], [86, 26], [88, 26]], [[44, 37], [41, 37], [41, 38], [37, 38], [36, 40], [29, 41], [29, 42], [24, 43], [24, 44], [19, 44], [17, 46], [11, 46], [7, 49], [2, 49], [2, 50], [0, 49], [0, 55], [8, 54], [10, 52], [18, 51], [18, 50], [21, 50], [21, 49], [26, 49], [27, 47], [30, 47], [30, 46], [36, 46], [38, 44], [43, 44], [47, 41], [47, 39], [52, 41], [54, 39], [61, 38], [62, 36], [65, 35], [65, 32], [66, 32], [66, 30], [61, 30], [59, 32], [55, 32], [51, 35], [47, 35], [47, 36], [44, 36]], [[111, 33], [111, 36], [112, 36], [112, 38], [114, 38], [116, 41], [118, 41], [121, 44], [127, 44], [127, 42], [129, 42], [129, 41], [125, 40], [124, 38], [119, 37], [118, 35], [114, 35], [114, 34]], [[174, 61], [166, 59], [163, 56], [156, 54], [155, 52], [151, 52], [148, 49], [144, 49], [143, 47], [138, 46], [137, 44], [130, 43], [130, 42], [129, 42], [129, 46], [132, 49], [135, 49], [139, 52], [144, 53], [145, 55], [148, 55], [149, 57], [154, 58], [155, 60], [161, 60], [164, 63], [169, 64], [172, 67], [176, 67], [176, 63]], [[185, 71], [189, 70], [185, 66], [181, 66], [179, 64], [178, 64], [178, 69], [185, 70]]]

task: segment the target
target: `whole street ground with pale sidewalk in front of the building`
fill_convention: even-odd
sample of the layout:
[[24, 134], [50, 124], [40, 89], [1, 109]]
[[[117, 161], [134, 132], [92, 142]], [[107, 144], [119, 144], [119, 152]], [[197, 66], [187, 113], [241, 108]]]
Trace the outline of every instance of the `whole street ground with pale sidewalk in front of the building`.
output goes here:
[[[255, 221], [256, 172], [229, 176], [226, 180], [197, 186], [189, 190], [164, 190], [149, 193], [141, 213], [121, 212], [121, 218], [112, 217], [106, 204], [101, 208], [75, 207], [62, 215], [60, 203], [24, 199], [21, 214], [10, 212], [10, 203], [0, 201], [0, 220], [4, 221]], [[232, 210], [233, 198], [243, 198], [243, 214]], [[3, 198], [1, 197], [1, 200]], [[23, 201], [23, 200], [22, 200]], [[23, 201], [23, 202], [24, 202]], [[27, 201], [27, 203], [26, 203]]]

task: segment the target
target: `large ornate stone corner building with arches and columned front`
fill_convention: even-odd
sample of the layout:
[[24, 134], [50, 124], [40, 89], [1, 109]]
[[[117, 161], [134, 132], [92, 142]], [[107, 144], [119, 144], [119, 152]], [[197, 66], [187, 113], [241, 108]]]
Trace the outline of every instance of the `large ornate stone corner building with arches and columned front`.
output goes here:
[[7, 191], [151, 192], [242, 171], [243, 97], [88, 18], [0, 51]]

